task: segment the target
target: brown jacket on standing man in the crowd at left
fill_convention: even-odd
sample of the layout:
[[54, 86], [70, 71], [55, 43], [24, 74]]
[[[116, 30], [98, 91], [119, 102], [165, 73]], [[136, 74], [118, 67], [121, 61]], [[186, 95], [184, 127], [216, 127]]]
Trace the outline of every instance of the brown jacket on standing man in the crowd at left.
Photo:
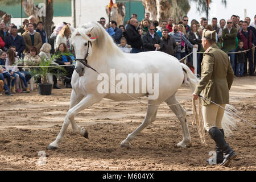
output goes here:
[[[30, 52], [30, 48], [32, 47], [32, 41], [30, 38], [30, 33], [24, 33], [23, 35], [23, 39], [24, 42], [26, 44], [26, 49], [24, 50], [24, 52]], [[42, 38], [41, 35], [38, 32], [35, 32], [35, 37], [34, 37], [34, 46], [36, 47], [36, 49], [38, 50], [37, 52], [40, 52], [40, 48], [42, 47]]]

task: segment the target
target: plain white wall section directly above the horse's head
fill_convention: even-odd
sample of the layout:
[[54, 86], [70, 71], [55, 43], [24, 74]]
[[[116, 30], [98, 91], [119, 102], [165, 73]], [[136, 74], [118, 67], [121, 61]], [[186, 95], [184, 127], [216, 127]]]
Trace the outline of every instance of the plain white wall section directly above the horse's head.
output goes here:
[[[101, 17], [108, 22], [105, 6], [110, 0], [76, 0], [76, 27], [90, 21], [99, 21]], [[115, 3], [115, 0], [113, 0]]]

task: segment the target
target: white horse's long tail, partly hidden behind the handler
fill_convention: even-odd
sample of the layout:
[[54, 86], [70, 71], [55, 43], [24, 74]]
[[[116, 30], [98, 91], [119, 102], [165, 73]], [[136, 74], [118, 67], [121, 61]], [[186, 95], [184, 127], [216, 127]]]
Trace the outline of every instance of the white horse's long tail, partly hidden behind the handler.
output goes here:
[[[200, 81], [196, 75], [187, 67], [187, 65], [180, 63], [184, 71], [184, 83], [191, 87], [192, 92], [195, 91], [197, 83]], [[236, 113], [237, 110], [232, 105], [226, 104], [225, 112], [222, 118], [222, 127], [227, 137], [232, 134], [232, 129], [236, 129], [237, 118], [234, 118], [231, 113]], [[228, 110], [228, 111], [227, 111]]]

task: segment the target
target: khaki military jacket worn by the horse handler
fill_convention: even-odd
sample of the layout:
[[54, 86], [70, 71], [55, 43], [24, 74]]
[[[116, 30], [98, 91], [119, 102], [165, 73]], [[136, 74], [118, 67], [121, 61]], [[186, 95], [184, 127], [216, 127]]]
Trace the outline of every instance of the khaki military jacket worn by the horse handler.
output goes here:
[[[229, 104], [229, 90], [234, 79], [228, 55], [217, 46], [211, 46], [204, 52], [201, 63], [201, 80], [195, 93], [208, 98], [216, 104]], [[203, 101], [203, 105], [212, 104]]]

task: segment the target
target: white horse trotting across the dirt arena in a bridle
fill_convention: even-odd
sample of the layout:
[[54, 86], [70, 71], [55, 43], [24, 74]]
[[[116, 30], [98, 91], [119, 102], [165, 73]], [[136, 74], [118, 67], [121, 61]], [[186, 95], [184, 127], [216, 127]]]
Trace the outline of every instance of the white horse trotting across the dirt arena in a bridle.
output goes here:
[[[110, 69], [115, 69], [115, 73], [151, 73], [159, 74], [159, 96], [158, 98], [148, 100], [147, 114], [142, 124], [129, 134], [125, 140], [121, 142], [121, 146], [129, 146], [131, 140], [156, 119], [158, 105], [166, 102], [170, 109], [174, 111], [179, 119], [183, 131], [183, 140], [177, 144], [179, 147], [187, 147], [191, 144], [191, 137], [188, 130], [186, 120], [186, 111], [178, 104], [176, 100], [177, 89], [180, 88], [184, 77], [191, 89], [195, 90], [198, 82], [197, 78], [190, 69], [179, 61], [166, 53], [159, 51], [141, 52], [136, 54], [123, 53], [113, 42], [108, 32], [96, 22], [89, 22], [80, 28], [72, 28], [71, 42], [75, 48], [77, 59], [88, 60], [88, 64], [96, 69], [98, 73], [105, 73], [110, 78]], [[97, 38], [96, 38], [97, 37]], [[96, 39], [95, 39], [96, 38]], [[92, 46], [90, 46], [92, 42]], [[86, 54], [88, 56], [86, 56]], [[56, 140], [49, 144], [48, 149], [56, 149], [63, 140], [65, 131], [68, 128], [69, 122], [72, 125], [74, 133], [80, 134], [87, 138], [88, 132], [84, 127], [80, 127], [75, 122], [75, 115], [79, 111], [100, 102], [103, 98], [109, 98], [114, 101], [131, 100], [133, 97], [150, 97], [153, 93], [146, 90], [146, 93], [131, 93], [128, 96], [126, 93], [99, 93], [97, 91], [98, 84], [101, 80], [97, 79], [98, 74], [90, 68], [85, 67], [80, 61], [76, 63], [76, 71], [72, 75], [72, 93], [71, 104], [68, 113], [65, 117], [63, 126]], [[115, 84], [115, 82], [113, 82]], [[129, 85], [128, 85], [129, 86]], [[175, 105], [176, 104], [176, 105]]]

